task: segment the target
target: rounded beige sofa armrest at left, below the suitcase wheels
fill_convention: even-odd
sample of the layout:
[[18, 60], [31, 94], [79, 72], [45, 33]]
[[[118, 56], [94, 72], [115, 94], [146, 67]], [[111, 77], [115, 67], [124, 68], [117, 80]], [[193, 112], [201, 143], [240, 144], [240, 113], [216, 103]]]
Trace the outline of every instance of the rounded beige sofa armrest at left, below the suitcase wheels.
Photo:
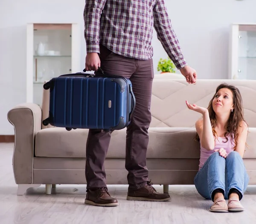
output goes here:
[[12, 159], [15, 182], [32, 184], [34, 141], [36, 133], [41, 130], [41, 108], [33, 103], [20, 104], [8, 112], [7, 118], [15, 132]]

